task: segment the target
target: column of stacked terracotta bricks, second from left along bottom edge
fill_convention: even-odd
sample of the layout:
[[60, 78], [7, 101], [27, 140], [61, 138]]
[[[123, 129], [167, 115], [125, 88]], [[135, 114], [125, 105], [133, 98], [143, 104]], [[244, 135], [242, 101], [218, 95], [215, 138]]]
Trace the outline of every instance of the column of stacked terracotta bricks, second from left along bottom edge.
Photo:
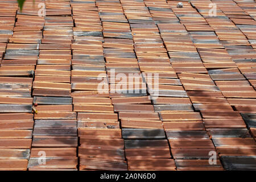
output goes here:
[[[71, 97], [71, 5], [67, 1], [36, 1], [32, 8], [27, 3], [32, 6], [32, 1], [26, 1], [22, 18], [27, 20], [28, 30], [34, 29], [31, 34], [40, 35], [32, 39], [38, 43], [39, 55], [32, 85], [35, 124], [28, 170], [76, 170], [77, 116]], [[39, 16], [36, 7], [45, 7], [45, 16]]]

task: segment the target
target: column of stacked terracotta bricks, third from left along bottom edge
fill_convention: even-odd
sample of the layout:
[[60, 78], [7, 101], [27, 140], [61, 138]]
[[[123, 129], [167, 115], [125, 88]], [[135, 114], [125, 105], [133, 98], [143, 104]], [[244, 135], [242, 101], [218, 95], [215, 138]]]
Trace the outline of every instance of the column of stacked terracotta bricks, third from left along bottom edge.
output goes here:
[[[108, 1], [72, 2], [72, 97], [77, 112], [80, 170], [127, 170], [118, 114], [109, 94], [109, 46], [118, 39], [120, 6]], [[117, 55], [117, 56], [116, 56]], [[107, 71], [106, 71], [107, 70]]]

